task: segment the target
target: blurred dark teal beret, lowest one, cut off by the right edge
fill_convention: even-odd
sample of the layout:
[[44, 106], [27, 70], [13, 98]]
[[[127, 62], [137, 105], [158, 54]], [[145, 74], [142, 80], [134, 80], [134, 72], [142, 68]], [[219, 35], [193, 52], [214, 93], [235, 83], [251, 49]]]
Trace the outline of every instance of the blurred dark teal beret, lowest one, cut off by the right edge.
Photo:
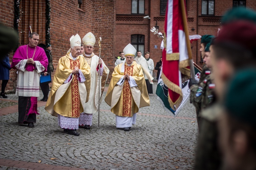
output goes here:
[[256, 69], [237, 72], [230, 81], [224, 100], [229, 115], [256, 126]]

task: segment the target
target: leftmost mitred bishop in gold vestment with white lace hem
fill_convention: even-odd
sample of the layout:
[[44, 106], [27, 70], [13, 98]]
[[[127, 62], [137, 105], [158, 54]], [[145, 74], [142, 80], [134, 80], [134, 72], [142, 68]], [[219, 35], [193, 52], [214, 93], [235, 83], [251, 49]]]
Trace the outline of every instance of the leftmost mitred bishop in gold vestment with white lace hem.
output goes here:
[[73, 37], [73, 39], [70, 43], [71, 49], [66, 56], [59, 59], [45, 109], [58, 117], [60, 128], [69, 134], [78, 136], [79, 133], [76, 130], [80, 113], [84, 111], [89, 97], [90, 67], [84, 57], [79, 56], [80, 36]]

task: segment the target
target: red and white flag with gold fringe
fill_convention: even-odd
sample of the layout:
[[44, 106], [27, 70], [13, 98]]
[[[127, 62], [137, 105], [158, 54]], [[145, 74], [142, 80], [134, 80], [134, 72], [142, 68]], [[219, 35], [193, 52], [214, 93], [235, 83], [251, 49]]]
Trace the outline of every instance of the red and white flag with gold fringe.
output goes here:
[[165, 16], [164, 47], [161, 78], [168, 87], [170, 106], [172, 109], [176, 109], [183, 99], [181, 74], [190, 76], [180, 0], [168, 0]]

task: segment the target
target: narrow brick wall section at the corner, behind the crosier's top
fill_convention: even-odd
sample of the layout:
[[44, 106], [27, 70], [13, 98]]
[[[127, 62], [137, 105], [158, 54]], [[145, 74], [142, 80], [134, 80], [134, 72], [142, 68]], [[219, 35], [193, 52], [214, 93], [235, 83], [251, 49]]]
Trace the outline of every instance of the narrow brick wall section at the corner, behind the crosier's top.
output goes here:
[[94, 53], [99, 55], [98, 39], [101, 37], [101, 57], [110, 69], [107, 83], [110, 82], [114, 71], [112, 63], [115, 55], [115, 3], [115, 0], [95, 0], [91, 8], [91, 29], [96, 38]]

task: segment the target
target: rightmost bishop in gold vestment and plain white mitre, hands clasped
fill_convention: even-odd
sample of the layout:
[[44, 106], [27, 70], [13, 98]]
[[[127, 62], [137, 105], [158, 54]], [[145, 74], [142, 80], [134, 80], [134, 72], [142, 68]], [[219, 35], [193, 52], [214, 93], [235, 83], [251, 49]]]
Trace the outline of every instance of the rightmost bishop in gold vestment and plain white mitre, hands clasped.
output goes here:
[[126, 62], [115, 67], [105, 98], [116, 115], [116, 128], [125, 131], [136, 123], [139, 108], [150, 105], [142, 68], [133, 61], [135, 52], [131, 44], [124, 49]]

